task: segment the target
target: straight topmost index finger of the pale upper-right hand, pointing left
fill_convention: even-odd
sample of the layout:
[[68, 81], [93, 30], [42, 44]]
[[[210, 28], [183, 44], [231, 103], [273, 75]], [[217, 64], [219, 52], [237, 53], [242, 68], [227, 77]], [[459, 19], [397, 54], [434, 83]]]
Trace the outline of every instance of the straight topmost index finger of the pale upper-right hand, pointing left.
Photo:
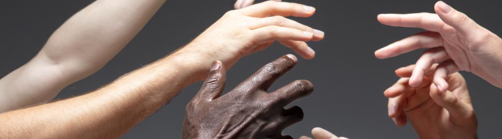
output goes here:
[[438, 15], [431, 13], [415, 14], [380, 14], [378, 21], [393, 27], [422, 28], [433, 32], [442, 32], [449, 26], [444, 26]]

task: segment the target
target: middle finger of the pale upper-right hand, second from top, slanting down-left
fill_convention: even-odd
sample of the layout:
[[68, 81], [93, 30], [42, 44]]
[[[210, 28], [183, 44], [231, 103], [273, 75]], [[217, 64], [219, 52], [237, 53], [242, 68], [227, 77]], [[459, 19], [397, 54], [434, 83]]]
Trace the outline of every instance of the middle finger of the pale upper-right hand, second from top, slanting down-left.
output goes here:
[[434, 48], [443, 45], [443, 38], [436, 32], [422, 32], [401, 41], [395, 42], [375, 51], [379, 59], [386, 59], [405, 54], [421, 48]]

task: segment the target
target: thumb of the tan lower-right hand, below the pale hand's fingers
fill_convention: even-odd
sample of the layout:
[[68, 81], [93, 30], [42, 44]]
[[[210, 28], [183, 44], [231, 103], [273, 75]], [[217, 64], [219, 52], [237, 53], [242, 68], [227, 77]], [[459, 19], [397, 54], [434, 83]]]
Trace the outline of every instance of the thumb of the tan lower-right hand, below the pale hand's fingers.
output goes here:
[[430, 86], [430, 96], [439, 106], [445, 108], [454, 123], [461, 124], [474, 116], [473, 109], [459, 100], [451, 91], [441, 92], [434, 84]]

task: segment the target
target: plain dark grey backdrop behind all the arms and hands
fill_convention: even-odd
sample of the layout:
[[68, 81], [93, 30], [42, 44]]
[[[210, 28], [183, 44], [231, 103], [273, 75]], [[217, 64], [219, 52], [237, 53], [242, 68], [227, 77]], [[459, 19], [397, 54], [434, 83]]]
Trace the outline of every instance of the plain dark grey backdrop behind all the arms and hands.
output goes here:
[[[0, 1], [0, 76], [28, 62], [66, 19], [92, 3], [90, 0]], [[65, 88], [58, 98], [79, 95], [103, 86], [120, 75], [140, 68], [183, 46], [231, 10], [233, 0], [170, 0], [144, 30], [96, 74]], [[386, 27], [376, 21], [379, 13], [434, 12], [436, 1], [290, 1], [317, 8], [312, 18], [293, 18], [326, 32], [322, 42], [309, 45], [314, 60], [299, 64], [278, 80], [277, 89], [296, 79], [314, 83], [315, 91], [293, 102], [305, 111], [305, 119], [283, 131], [293, 137], [310, 135], [315, 126], [351, 138], [418, 138], [411, 126], [396, 127], [387, 116], [383, 91], [398, 78], [394, 70], [415, 63], [422, 51], [378, 60], [373, 52], [420, 29]], [[500, 1], [446, 1], [467, 13], [480, 25], [501, 35]], [[226, 91], [261, 66], [291, 50], [275, 44], [241, 59], [230, 71]], [[479, 121], [480, 138], [499, 136], [502, 129], [502, 91], [471, 73], [465, 76]], [[185, 88], [172, 102], [131, 129], [123, 138], [180, 138], [184, 107], [200, 83]]]

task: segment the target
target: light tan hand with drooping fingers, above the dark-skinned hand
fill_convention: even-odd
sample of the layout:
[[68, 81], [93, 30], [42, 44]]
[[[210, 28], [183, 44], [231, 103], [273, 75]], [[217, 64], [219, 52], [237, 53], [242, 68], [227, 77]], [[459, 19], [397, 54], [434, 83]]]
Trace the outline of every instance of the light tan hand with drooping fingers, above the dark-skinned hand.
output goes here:
[[310, 17], [314, 13], [312, 7], [274, 1], [229, 11], [179, 53], [205, 61], [198, 64], [203, 66], [198, 69], [199, 80], [206, 78], [213, 61], [230, 68], [239, 58], [264, 50], [274, 41], [312, 59], [315, 52], [305, 42], [320, 41], [324, 33], [285, 17]]

